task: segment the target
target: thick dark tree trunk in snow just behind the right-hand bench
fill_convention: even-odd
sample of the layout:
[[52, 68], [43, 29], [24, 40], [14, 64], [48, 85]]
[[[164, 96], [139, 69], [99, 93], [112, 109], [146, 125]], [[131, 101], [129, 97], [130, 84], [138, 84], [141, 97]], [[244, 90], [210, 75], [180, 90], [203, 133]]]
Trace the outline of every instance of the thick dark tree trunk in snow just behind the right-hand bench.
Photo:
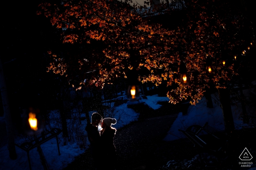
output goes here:
[[218, 92], [224, 118], [225, 131], [230, 134], [235, 129], [230, 105], [230, 93], [227, 88], [218, 88]]

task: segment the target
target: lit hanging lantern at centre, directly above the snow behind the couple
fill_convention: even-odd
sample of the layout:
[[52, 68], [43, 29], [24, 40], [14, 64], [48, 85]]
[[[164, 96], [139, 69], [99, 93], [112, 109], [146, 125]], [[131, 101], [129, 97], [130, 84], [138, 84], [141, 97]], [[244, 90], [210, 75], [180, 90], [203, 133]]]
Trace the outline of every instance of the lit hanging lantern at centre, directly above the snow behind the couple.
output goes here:
[[128, 89], [127, 89], [127, 99], [130, 101], [136, 101], [140, 99], [140, 89], [138, 82], [138, 73], [136, 70], [130, 70], [127, 73], [128, 79]]

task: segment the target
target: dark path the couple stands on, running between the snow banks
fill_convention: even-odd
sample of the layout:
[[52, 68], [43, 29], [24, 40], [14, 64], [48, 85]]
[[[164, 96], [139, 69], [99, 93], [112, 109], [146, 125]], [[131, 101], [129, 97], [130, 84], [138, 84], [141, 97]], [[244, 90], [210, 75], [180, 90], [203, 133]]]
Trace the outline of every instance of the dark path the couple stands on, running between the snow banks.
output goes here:
[[[119, 129], [114, 138], [117, 150], [116, 170], [145, 169], [153, 165], [155, 147], [166, 136], [177, 115], [148, 118]], [[99, 153], [99, 162], [101, 159], [102, 154]], [[90, 151], [87, 150], [63, 170], [91, 170], [91, 162]]]

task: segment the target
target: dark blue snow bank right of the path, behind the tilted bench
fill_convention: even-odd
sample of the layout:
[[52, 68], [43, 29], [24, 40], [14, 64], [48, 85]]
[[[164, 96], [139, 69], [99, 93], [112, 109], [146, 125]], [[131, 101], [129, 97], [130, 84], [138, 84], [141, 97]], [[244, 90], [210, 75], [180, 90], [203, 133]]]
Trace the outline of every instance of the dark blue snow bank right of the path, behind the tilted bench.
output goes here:
[[[203, 97], [196, 106], [189, 106], [187, 115], [182, 115], [180, 112], [177, 119], [173, 122], [168, 135], [166, 135], [163, 140], [173, 141], [175, 139], [185, 138], [185, 135], [178, 131], [178, 129], [185, 130], [193, 124], [203, 126], [208, 122], [210, 126], [215, 127], [218, 130], [224, 130], [224, 120], [222, 109], [219, 106], [220, 103], [218, 102], [216, 95], [212, 94], [212, 98], [214, 108], [206, 107], [206, 99]], [[236, 129], [240, 129], [242, 126], [247, 126], [247, 124], [243, 124], [242, 120], [238, 118], [242, 112], [241, 106], [238, 105], [237, 107], [236, 105], [231, 105], [231, 110]]]

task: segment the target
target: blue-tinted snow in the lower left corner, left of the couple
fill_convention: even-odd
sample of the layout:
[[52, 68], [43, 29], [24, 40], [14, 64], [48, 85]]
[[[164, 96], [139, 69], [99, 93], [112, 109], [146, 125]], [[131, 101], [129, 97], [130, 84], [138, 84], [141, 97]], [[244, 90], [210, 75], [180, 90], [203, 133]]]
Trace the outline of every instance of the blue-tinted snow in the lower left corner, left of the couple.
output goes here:
[[[57, 111], [52, 111], [50, 113], [50, 124], [52, 128], [57, 127], [58, 123], [56, 122], [56, 116]], [[53, 116], [55, 115], [55, 116]], [[86, 121], [82, 121], [82, 127], [83, 129], [86, 126]], [[2, 118], [2, 121], [0, 123], [4, 123], [4, 119]], [[69, 121], [67, 121], [67, 124], [70, 125]], [[24, 140], [24, 137], [18, 135], [16, 136], [15, 143], [19, 143]], [[76, 143], [69, 143], [68, 145], [63, 145], [63, 139], [61, 139], [59, 135], [59, 146], [60, 146], [60, 154], [58, 153], [57, 149], [57, 142], [56, 139], [53, 138], [41, 145], [41, 149], [45, 155], [46, 162], [48, 163], [50, 169], [59, 170], [63, 169], [65, 166], [67, 166], [68, 163], [72, 162], [74, 160], [75, 156], [78, 156], [79, 154], [83, 153], [84, 150], [81, 150], [79, 146]], [[0, 147], [1, 155], [0, 155], [0, 169], [1, 170], [29, 170], [29, 163], [27, 158], [27, 153], [20, 149], [19, 147], [16, 147], [16, 153], [17, 153], [17, 159], [12, 160], [9, 157], [9, 152], [7, 145], [4, 145]], [[32, 170], [43, 170], [43, 166], [40, 162], [40, 157], [37, 152], [37, 149], [34, 148], [29, 152], [30, 155], [30, 162]]]

